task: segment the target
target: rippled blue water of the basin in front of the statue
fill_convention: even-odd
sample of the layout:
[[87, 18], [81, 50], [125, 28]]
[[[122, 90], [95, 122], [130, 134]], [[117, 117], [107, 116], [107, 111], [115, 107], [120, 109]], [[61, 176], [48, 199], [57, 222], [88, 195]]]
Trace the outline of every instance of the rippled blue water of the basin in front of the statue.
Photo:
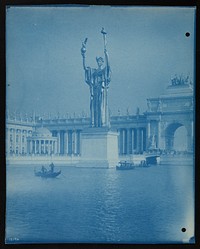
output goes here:
[[188, 243], [193, 236], [191, 166], [60, 168], [57, 179], [41, 179], [32, 166], [8, 167], [7, 243]]

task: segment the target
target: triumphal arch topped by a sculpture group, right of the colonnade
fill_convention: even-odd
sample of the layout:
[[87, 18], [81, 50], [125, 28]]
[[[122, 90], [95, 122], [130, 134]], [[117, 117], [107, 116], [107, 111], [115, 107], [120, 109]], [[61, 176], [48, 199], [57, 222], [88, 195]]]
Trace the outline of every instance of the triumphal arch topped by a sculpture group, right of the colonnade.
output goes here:
[[187, 152], [194, 150], [194, 93], [189, 77], [174, 77], [165, 94], [147, 99], [147, 141], [149, 149], [172, 151], [174, 135], [185, 127]]

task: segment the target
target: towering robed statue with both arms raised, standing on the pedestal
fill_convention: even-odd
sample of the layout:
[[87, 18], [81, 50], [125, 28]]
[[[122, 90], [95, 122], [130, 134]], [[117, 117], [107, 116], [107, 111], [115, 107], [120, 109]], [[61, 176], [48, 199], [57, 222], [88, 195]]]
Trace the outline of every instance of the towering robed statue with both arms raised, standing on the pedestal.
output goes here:
[[96, 57], [98, 68], [87, 67], [85, 63], [87, 38], [82, 43], [81, 54], [83, 57], [83, 68], [85, 70], [85, 82], [90, 87], [90, 118], [91, 127], [108, 127], [108, 98], [107, 92], [111, 80], [111, 70], [106, 49], [106, 32], [102, 28], [101, 33], [104, 39], [104, 59]]

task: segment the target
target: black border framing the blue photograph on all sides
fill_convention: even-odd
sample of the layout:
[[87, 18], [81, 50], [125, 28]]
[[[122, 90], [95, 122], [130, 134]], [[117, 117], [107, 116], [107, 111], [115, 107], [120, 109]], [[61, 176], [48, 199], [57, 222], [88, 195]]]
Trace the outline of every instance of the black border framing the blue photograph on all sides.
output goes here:
[[[138, 249], [154, 249], [154, 248], [199, 248], [200, 246], [200, 219], [199, 219], [199, 176], [200, 171], [198, 167], [199, 163], [199, 91], [198, 91], [198, 80], [199, 80], [199, 2], [198, 1], [55, 1], [55, 0], [9, 0], [9, 1], [1, 1], [1, 12], [0, 12], [0, 33], [3, 34], [0, 38], [0, 78], [2, 82], [2, 91], [1, 91], [1, 113], [3, 114], [3, 118], [1, 123], [1, 168], [0, 168], [0, 188], [1, 188], [1, 227], [0, 227], [0, 245], [2, 248], [138, 248]], [[84, 4], [84, 5], [133, 5], [133, 6], [197, 6], [197, 21], [196, 21], [196, 89], [194, 90], [195, 94], [195, 102], [196, 102], [196, 110], [195, 110], [195, 244], [92, 244], [92, 243], [66, 243], [66, 244], [5, 244], [5, 208], [6, 208], [6, 159], [5, 159], [5, 103], [6, 103], [6, 66], [5, 66], [5, 53], [6, 53], [6, 43], [5, 43], [5, 8], [6, 5], [63, 5], [63, 4]]]

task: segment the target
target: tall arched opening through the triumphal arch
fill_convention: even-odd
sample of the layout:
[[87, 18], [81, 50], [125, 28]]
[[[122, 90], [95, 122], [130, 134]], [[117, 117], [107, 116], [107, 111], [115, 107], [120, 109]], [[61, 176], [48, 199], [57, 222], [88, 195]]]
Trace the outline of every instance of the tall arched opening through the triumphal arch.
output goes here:
[[165, 130], [165, 149], [168, 151], [187, 150], [187, 130], [180, 123], [170, 124]]

